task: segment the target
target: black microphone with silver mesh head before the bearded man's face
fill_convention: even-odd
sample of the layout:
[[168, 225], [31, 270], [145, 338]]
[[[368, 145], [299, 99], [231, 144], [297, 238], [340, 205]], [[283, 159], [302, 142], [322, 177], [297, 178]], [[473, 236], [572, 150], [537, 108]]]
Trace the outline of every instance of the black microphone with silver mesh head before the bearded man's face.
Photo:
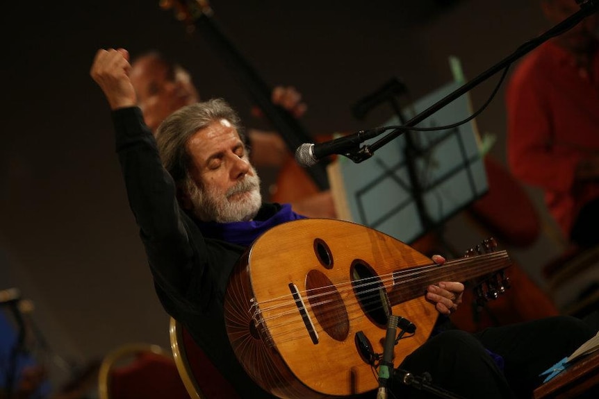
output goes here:
[[302, 167], [311, 167], [329, 155], [346, 155], [368, 139], [377, 137], [387, 128], [360, 130], [353, 135], [339, 137], [324, 143], [304, 143], [295, 150], [295, 160]]

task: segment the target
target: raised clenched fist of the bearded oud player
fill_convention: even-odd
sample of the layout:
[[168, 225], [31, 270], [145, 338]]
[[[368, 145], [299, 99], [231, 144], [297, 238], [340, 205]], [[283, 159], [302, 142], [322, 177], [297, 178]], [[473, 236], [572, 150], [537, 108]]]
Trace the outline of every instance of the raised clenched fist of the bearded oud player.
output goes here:
[[129, 52], [125, 49], [100, 49], [96, 53], [90, 75], [104, 92], [110, 109], [137, 105], [130, 72]]

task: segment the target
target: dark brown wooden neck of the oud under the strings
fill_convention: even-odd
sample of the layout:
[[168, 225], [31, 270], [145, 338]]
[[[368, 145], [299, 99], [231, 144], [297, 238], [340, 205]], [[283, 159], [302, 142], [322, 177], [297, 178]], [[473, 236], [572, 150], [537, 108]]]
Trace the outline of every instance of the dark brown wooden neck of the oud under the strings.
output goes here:
[[491, 275], [511, 264], [506, 251], [497, 251], [462, 257], [444, 264], [429, 264], [393, 272], [393, 287], [388, 297], [391, 305], [422, 296], [429, 285], [441, 281], [465, 282], [473, 278]]

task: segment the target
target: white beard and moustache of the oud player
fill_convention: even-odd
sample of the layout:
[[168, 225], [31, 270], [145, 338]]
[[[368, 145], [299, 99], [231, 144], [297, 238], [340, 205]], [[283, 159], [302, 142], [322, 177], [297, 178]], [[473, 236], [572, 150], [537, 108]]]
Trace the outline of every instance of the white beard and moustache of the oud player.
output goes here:
[[[191, 182], [188, 184], [190, 200], [193, 203], [193, 214], [201, 221], [230, 223], [254, 219], [262, 205], [260, 194], [260, 178], [254, 170], [253, 175], [245, 175], [236, 185], [222, 194], [215, 189], [200, 189]], [[236, 194], [243, 198], [232, 198]]]

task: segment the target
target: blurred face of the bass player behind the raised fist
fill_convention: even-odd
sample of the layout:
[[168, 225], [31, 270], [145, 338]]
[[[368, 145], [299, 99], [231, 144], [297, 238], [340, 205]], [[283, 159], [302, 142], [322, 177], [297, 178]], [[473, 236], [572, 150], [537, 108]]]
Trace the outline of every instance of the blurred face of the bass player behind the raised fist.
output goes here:
[[166, 65], [156, 56], [143, 56], [132, 65], [135, 88], [145, 123], [152, 131], [179, 108], [197, 103], [199, 96], [187, 71]]

